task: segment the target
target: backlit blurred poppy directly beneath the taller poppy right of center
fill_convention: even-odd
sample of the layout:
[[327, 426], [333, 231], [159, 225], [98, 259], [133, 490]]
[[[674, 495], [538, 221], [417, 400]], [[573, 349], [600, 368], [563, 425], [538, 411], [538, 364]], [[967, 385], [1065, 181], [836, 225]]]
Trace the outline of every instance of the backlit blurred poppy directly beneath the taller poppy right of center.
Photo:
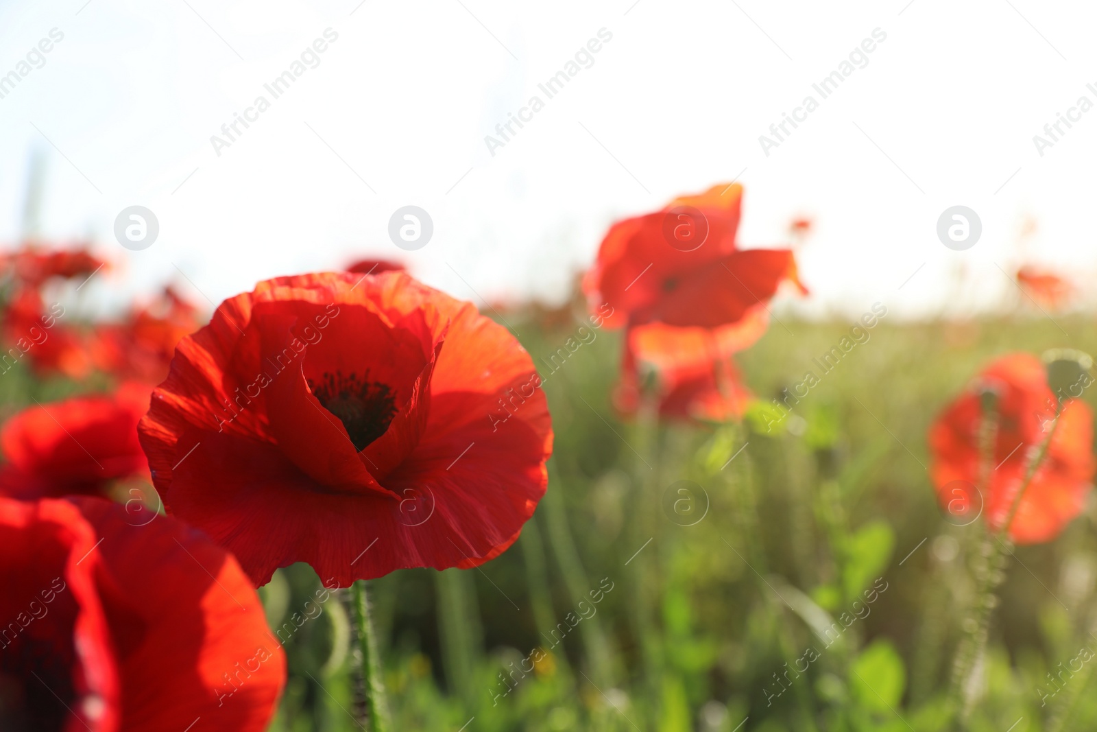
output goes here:
[[671, 419], [742, 419], [754, 395], [742, 381], [732, 354], [749, 348], [766, 331], [760, 305], [742, 320], [715, 329], [676, 328], [661, 323], [629, 328], [614, 405], [625, 415], [640, 408], [643, 373], [653, 373], [659, 415]]

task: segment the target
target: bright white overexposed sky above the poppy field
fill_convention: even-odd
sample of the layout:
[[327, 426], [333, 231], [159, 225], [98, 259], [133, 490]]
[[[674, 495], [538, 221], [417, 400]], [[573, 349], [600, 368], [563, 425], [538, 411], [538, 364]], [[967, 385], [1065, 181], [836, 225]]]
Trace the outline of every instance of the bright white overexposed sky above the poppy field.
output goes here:
[[[219, 302], [364, 256], [480, 305], [558, 299], [614, 217], [740, 172], [743, 245], [816, 219], [801, 252], [816, 313], [1016, 297], [998, 267], [1021, 261], [1097, 273], [1097, 110], [1042, 157], [1032, 142], [1097, 102], [1089, 3], [86, 2], [0, 0], [0, 75], [64, 33], [0, 99], [0, 240], [20, 236], [37, 151], [44, 234], [91, 236], [117, 263], [89, 284], [103, 303], [190, 288], [177, 267]], [[328, 27], [319, 66], [273, 100], [263, 85]], [[593, 65], [546, 99], [538, 83], [603, 27]], [[868, 66], [823, 100], [812, 83], [878, 27]], [[211, 135], [259, 94], [270, 109], [218, 157]], [[493, 157], [484, 136], [534, 94], [544, 109]], [[819, 108], [767, 157], [758, 136], [807, 94]], [[160, 222], [144, 251], [112, 235], [133, 204]], [[387, 237], [407, 204], [434, 222], [414, 252]], [[982, 218], [968, 251], [936, 236], [955, 204]]]

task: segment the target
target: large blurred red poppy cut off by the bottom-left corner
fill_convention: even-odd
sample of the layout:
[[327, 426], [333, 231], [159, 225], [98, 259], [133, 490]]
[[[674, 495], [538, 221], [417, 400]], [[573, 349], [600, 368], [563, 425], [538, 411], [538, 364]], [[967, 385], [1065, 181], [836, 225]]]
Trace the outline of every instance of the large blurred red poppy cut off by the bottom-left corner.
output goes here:
[[236, 560], [101, 498], [0, 498], [5, 730], [259, 732], [285, 656]]

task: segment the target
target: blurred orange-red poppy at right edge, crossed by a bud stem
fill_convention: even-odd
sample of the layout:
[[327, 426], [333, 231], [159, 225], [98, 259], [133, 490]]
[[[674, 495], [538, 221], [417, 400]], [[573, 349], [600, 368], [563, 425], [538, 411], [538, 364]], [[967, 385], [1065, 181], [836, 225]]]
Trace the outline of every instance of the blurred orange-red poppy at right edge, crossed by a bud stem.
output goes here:
[[[981, 393], [986, 390], [996, 394], [999, 420], [989, 485], [979, 496]], [[992, 529], [1000, 528], [1024, 483], [1029, 451], [1047, 437], [1054, 398], [1043, 363], [1034, 356], [1014, 353], [991, 363], [946, 408], [929, 430], [930, 475], [946, 510], [961, 516], [981, 507]], [[1037, 543], [1058, 536], [1082, 511], [1094, 470], [1093, 414], [1084, 402], [1070, 399], [1048, 454], [1021, 497], [1010, 537], [1018, 543]]]

